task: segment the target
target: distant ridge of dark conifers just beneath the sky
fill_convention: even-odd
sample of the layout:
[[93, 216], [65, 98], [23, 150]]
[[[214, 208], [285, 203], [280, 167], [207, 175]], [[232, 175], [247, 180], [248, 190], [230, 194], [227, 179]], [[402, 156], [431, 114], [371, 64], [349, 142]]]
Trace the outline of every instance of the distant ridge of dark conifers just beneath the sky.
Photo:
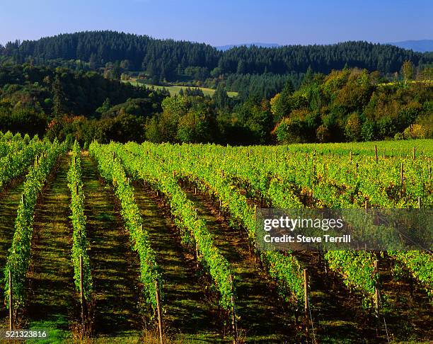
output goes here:
[[[400, 70], [405, 60], [415, 66], [433, 62], [433, 54], [393, 45], [342, 42], [335, 45], [234, 47], [221, 52], [204, 43], [158, 40], [114, 31], [62, 34], [0, 46], [2, 59], [14, 62], [67, 64], [76, 69], [105, 69], [120, 79], [122, 72], [142, 71], [154, 82], [191, 79], [207, 81], [229, 74], [303, 74], [308, 67], [328, 74], [332, 69], [358, 67], [384, 74]], [[209, 80], [210, 79], [210, 80]], [[231, 91], [241, 91], [232, 89]]]

